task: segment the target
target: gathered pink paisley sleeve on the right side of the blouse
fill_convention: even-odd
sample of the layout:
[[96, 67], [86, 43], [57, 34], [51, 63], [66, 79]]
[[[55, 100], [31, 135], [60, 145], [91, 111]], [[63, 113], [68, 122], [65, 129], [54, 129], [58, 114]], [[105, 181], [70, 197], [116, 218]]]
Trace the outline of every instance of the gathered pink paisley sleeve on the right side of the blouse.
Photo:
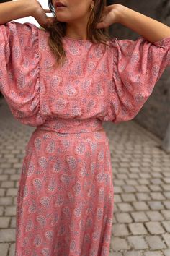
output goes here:
[[111, 40], [112, 82], [109, 86], [107, 120], [114, 123], [133, 119], [154, 85], [170, 66], [170, 36], [154, 43]]

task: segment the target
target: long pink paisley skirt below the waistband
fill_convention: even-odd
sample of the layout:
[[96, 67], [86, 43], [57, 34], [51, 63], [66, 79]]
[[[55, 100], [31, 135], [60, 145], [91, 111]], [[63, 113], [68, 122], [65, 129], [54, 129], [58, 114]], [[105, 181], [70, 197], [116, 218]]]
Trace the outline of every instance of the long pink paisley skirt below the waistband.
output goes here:
[[37, 127], [19, 179], [15, 256], [108, 256], [113, 197], [104, 130]]

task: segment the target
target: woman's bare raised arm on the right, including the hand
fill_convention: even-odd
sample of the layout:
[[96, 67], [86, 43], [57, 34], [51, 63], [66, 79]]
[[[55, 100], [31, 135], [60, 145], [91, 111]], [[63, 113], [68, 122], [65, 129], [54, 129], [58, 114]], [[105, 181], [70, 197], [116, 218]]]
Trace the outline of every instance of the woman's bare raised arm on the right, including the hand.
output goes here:
[[151, 43], [170, 37], [169, 26], [122, 4], [104, 7], [102, 19], [97, 24], [97, 28], [109, 27], [113, 23], [120, 23], [130, 28]]

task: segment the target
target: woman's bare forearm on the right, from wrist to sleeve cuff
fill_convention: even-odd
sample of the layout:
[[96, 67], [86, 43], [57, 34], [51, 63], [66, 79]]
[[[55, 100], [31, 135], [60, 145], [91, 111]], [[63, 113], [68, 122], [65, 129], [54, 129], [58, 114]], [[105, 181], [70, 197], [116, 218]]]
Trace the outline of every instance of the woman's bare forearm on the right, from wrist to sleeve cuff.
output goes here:
[[151, 43], [170, 37], [170, 27], [122, 4], [117, 5], [117, 15], [120, 24], [142, 35]]

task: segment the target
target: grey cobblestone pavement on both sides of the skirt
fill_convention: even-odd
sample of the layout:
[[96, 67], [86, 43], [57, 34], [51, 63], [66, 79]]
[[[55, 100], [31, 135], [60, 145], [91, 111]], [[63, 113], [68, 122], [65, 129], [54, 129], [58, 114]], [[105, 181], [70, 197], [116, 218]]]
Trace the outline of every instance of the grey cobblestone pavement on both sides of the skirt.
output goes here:
[[[12, 118], [4, 103], [0, 113], [0, 255], [13, 256], [18, 179], [24, 147], [35, 127]], [[135, 121], [103, 125], [115, 187], [109, 256], [169, 256], [170, 154]]]

